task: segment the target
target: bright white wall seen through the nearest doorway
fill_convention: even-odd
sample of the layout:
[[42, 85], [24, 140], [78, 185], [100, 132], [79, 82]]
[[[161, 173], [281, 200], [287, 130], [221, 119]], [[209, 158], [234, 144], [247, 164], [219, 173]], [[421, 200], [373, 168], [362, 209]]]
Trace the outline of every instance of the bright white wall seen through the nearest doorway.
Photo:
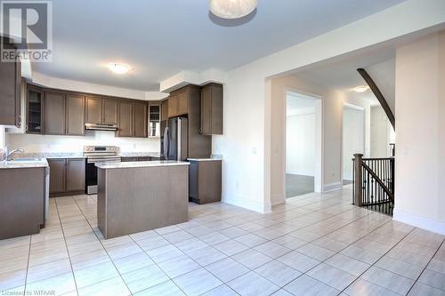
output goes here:
[[287, 116], [286, 173], [315, 176], [315, 109]]

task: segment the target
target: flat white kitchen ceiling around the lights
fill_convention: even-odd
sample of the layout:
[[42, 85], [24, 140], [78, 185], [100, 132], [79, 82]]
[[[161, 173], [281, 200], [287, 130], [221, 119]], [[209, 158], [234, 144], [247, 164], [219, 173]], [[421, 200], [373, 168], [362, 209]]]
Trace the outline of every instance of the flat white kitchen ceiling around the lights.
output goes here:
[[[53, 1], [53, 62], [47, 76], [158, 91], [182, 70], [231, 70], [404, 0], [259, 0], [252, 20], [214, 20], [207, 0]], [[134, 69], [109, 72], [109, 62]]]

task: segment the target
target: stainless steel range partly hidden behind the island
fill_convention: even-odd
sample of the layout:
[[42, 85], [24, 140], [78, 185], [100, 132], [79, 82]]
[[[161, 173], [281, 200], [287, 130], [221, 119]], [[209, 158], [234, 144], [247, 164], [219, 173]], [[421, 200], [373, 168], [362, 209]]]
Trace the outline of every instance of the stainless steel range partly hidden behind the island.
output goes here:
[[97, 193], [97, 167], [96, 163], [120, 163], [120, 156], [117, 156], [115, 146], [85, 146], [84, 156], [86, 156], [85, 187], [86, 194]]

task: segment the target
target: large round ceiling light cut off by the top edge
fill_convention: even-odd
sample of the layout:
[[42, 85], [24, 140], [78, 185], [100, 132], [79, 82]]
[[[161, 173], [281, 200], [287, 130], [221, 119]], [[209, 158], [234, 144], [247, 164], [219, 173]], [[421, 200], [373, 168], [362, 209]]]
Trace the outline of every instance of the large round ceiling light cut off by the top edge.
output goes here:
[[210, 0], [210, 12], [222, 19], [239, 19], [255, 11], [256, 0]]

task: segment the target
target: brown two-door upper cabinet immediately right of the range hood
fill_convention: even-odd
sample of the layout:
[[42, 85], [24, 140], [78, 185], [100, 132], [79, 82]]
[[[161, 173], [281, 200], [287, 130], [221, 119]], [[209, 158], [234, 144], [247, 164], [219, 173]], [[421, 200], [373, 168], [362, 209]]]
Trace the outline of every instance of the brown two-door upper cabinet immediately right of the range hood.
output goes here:
[[121, 100], [117, 115], [118, 137], [147, 138], [147, 103]]

